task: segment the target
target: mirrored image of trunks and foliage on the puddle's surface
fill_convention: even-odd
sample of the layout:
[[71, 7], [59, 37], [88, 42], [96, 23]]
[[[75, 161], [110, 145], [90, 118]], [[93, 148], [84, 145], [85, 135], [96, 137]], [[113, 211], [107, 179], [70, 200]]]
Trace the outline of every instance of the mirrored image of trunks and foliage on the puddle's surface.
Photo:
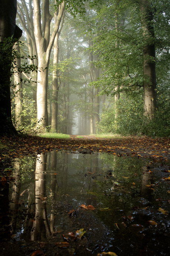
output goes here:
[[[6, 198], [2, 218], [6, 218], [6, 227], [16, 239], [32, 241], [44, 240], [64, 229], [59, 209], [68, 212], [69, 207], [78, 209], [81, 204], [94, 206], [97, 211], [93, 214], [98, 214], [112, 230], [125, 230], [127, 216], [131, 215], [136, 216], [136, 224], [144, 225], [152, 211], [148, 210], [149, 217], [141, 217], [136, 209], [157, 207], [155, 198], [165, 196], [164, 185], [159, 185], [160, 190], [146, 186], [154, 183], [152, 172], [145, 170], [146, 164], [137, 158], [55, 151], [17, 160], [10, 184], [10, 219], [4, 214], [8, 212], [8, 186], [1, 184]], [[9, 228], [6, 230], [8, 237]]]

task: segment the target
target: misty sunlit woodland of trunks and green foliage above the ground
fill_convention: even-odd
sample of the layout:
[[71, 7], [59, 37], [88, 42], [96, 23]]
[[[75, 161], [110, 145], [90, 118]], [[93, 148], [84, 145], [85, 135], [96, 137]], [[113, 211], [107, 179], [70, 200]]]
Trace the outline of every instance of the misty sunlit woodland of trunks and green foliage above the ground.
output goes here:
[[1, 133], [168, 137], [169, 20], [169, 1], [17, 1]]

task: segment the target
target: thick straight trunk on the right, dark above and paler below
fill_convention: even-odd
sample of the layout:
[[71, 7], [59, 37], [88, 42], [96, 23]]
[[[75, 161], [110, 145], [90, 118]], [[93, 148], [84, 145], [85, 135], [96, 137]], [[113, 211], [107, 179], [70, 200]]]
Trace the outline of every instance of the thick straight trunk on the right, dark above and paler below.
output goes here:
[[153, 14], [150, 11], [148, 0], [142, 0], [141, 11], [143, 13], [143, 38], [146, 42], [146, 46], [143, 47], [143, 76], [145, 79], [143, 84], [143, 109], [144, 115], [152, 120], [156, 110], [156, 66]]

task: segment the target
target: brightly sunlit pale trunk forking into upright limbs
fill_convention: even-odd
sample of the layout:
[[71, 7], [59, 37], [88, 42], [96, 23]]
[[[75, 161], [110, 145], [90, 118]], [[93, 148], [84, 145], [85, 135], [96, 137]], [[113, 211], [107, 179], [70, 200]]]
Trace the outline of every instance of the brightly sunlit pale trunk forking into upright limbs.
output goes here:
[[[58, 9], [57, 22], [54, 27], [50, 39], [50, 24], [52, 15], [49, 12], [49, 0], [43, 0], [41, 24], [41, 8], [40, 0], [33, 0], [34, 3], [34, 29], [35, 40], [38, 53], [38, 67], [43, 68], [38, 72], [37, 76], [37, 118], [43, 118], [42, 127], [45, 129], [48, 126], [48, 111], [47, 111], [47, 85], [48, 85], [48, 66], [50, 62], [50, 53], [54, 44], [55, 36], [58, 32], [59, 25], [64, 12], [65, 2], [63, 1]], [[45, 69], [46, 68], [46, 69]]]

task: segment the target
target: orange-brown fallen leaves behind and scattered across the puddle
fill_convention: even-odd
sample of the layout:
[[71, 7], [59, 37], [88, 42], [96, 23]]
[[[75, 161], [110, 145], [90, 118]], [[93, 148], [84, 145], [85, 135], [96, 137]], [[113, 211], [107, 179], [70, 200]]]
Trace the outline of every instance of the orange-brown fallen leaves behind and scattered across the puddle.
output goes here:
[[[18, 140], [18, 142], [16, 140], [10, 138], [11, 146], [14, 147], [14, 148], [12, 148], [13, 151], [11, 151], [9, 149], [6, 149], [6, 152], [4, 152], [5, 154], [0, 155], [0, 158], [1, 158], [0, 160], [1, 160], [1, 163], [2, 163], [1, 164], [1, 167], [2, 167], [1, 170], [2, 170], [3, 173], [6, 172], [5, 167], [7, 167], [6, 164], [10, 164], [10, 161], [9, 161], [10, 159], [12, 160], [16, 157], [20, 158], [20, 157], [23, 157], [24, 155], [35, 155], [36, 156], [36, 154], [51, 151], [54, 148], [55, 149], [57, 148], [58, 150], [67, 150], [67, 152], [68, 151], [71, 152], [72, 150], [77, 151], [78, 148], [79, 148], [80, 149], [79, 152], [86, 152], [88, 154], [91, 154], [93, 151], [98, 151], [98, 152], [107, 152], [109, 154], [118, 155], [118, 156], [122, 156], [122, 157], [125, 156], [125, 154], [126, 155], [131, 155], [131, 156], [136, 155], [137, 158], [139, 158], [139, 157], [141, 157], [141, 158], [148, 157], [147, 154], [150, 153], [149, 158], [152, 159], [152, 163], [159, 163], [159, 162], [160, 163], [161, 162], [162, 163], [163, 162], [167, 163], [169, 161], [169, 155], [168, 155], [169, 153], [167, 153], [168, 151], [167, 151], [167, 144], [166, 144], [167, 140], [165, 140], [165, 139], [160, 141], [160, 143], [157, 143], [156, 140], [152, 140], [152, 139], [149, 139], [148, 142], [147, 142], [146, 138], [145, 138], [145, 140], [144, 139], [140, 139], [140, 140], [137, 139], [135, 142], [134, 142], [134, 140], [133, 141], [129, 140], [128, 142], [125, 140], [125, 141], [123, 141], [124, 143], [123, 143], [123, 147], [122, 147], [121, 145], [118, 145], [118, 144], [121, 144], [120, 140], [115, 140], [115, 143], [114, 143], [114, 140], [102, 140], [102, 144], [100, 143], [100, 146], [99, 146], [99, 141], [100, 140], [98, 140], [98, 139], [94, 139], [93, 142], [88, 141], [88, 139], [84, 139], [84, 140], [72, 140], [71, 139], [72, 141], [70, 140], [69, 142], [68, 142], [68, 140], [63, 140], [63, 141], [58, 141], [57, 140], [58, 142], [56, 141], [56, 143], [58, 143], [58, 144], [56, 145], [54, 143], [54, 140], [52, 141], [52, 140], [49, 140], [49, 139], [36, 138], [36, 137], [34, 137], [34, 138], [31, 137], [31, 138], [32, 138], [32, 140], [30, 140], [30, 143], [27, 141], [27, 138]], [[34, 141], [34, 140], [37, 140], [37, 142]], [[24, 141], [24, 144], [22, 144], [22, 141]], [[2, 142], [5, 143], [6, 147], [9, 147], [8, 138], [4, 138]], [[13, 142], [13, 144], [12, 144], [12, 142]], [[20, 142], [20, 144], [19, 144], [19, 142]], [[137, 146], [136, 150], [135, 150], [135, 148], [131, 148], [132, 145], [133, 145], [133, 147], [136, 146], [137, 142], [138, 142], [138, 146]], [[46, 144], [46, 143], [48, 143], [48, 145], [43, 145], [43, 144]], [[68, 143], [69, 143], [69, 146], [68, 146]], [[114, 145], [112, 145], [112, 143], [114, 143]], [[135, 143], [136, 143], [136, 145], [135, 145]], [[32, 148], [30, 147], [31, 144], [32, 144]], [[91, 144], [93, 144], [93, 145], [91, 145]], [[27, 147], [27, 145], [29, 147]], [[85, 145], [86, 149], [83, 148], [83, 150], [82, 150], [81, 145]], [[20, 149], [18, 149], [18, 147], [20, 147]], [[22, 149], [22, 147], [24, 147], [24, 150]], [[143, 148], [145, 148], [145, 150], [147, 149], [148, 153], [146, 153], [147, 151], [144, 152], [143, 148], [142, 148], [142, 150], [141, 149], [139, 150], [139, 147], [143, 147]], [[109, 148], [109, 150], [108, 150], [108, 148]], [[154, 152], [153, 152], [154, 150], [156, 150], [158, 152], [159, 150], [163, 150], [163, 148], [165, 148], [166, 151], [164, 150], [164, 151], [161, 151], [161, 153], [154, 154]], [[122, 155], [121, 155], [121, 152], [120, 152], [121, 150], [122, 150]], [[130, 151], [132, 151], [132, 150], [133, 150], [133, 153], [130, 153]], [[116, 153], [113, 152], [113, 151], [116, 151]], [[140, 155], [137, 154], [135, 151], [140, 152]], [[8, 153], [8, 152], [10, 152], [10, 153]], [[8, 159], [8, 161], [7, 161], [7, 159]], [[162, 167], [163, 167], [164, 163], [162, 164]], [[169, 171], [167, 171], [167, 170], [162, 170], [162, 171], [164, 173], [169, 173]], [[11, 170], [10, 170], [10, 173], [12, 174]], [[151, 175], [152, 171], [147, 170], [147, 171], [144, 171], [144, 173], [149, 173]], [[89, 172], [89, 174], [91, 174], [91, 173]], [[6, 182], [6, 181], [8, 182], [9, 178], [12, 178], [12, 177], [10, 177], [10, 175], [4, 175], [4, 174], [1, 175], [1, 184], [2, 184], [2, 186], [5, 186], [4, 182]], [[57, 173], [54, 173], [54, 175], [57, 175]], [[137, 176], [136, 174], [133, 174], [133, 175]], [[124, 176], [122, 176], [122, 177], [127, 179], [127, 181], [130, 178], [130, 177], [124, 177]], [[162, 180], [164, 182], [169, 182], [168, 181], [169, 179], [170, 179], [170, 177], [162, 177]], [[117, 181], [113, 181], [113, 182], [114, 182], [115, 186], [120, 186], [119, 182], [117, 182]], [[132, 184], [135, 185], [136, 184], [135, 182], [133, 182]], [[147, 187], [147, 189], [149, 189], [150, 187], [152, 188], [153, 186], [155, 186], [155, 184], [154, 183], [146, 184], [145, 186]], [[166, 191], [167, 191], [167, 193], [170, 193], [169, 190], [166, 190]], [[43, 198], [43, 200], [46, 200], [46, 199]], [[161, 202], [161, 200], [162, 199], [160, 198], [160, 202]], [[166, 201], [169, 202], [169, 200], [167, 200], [167, 198], [166, 198]], [[84, 208], [86, 210], [95, 210], [95, 207], [93, 207], [91, 205], [88, 205], [88, 206], [84, 205], [84, 207], [82, 207], [82, 208]], [[92, 208], [92, 209], [90, 209], [90, 208]], [[104, 211], [112, 211], [112, 210], [109, 209], [109, 207], [101, 208], [101, 209], [98, 209], [98, 210], [103, 211], [103, 212]], [[129, 213], [132, 213], [133, 215], [128, 215], [127, 218], [125, 216], [122, 216], [122, 218], [125, 219], [124, 220], [125, 222], [115, 223], [116, 226], [119, 228], [119, 230], [116, 231], [116, 232], [120, 232], [122, 230], [122, 227], [123, 227], [125, 230], [129, 230], [130, 232], [135, 233], [137, 236], [139, 236], [141, 234], [145, 235], [145, 233], [149, 233], [149, 230], [147, 230], [146, 224], [149, 224], [153, 228], [157, 227], [157, 225], [158, 226], [162, 225], [162, 230], [164, 230], [164, 226], [166, 224], [163, 225], [161, 223], [164, 223], [164, 222], [166, 223], [165, 220], [164, 220], [164, 222], [161, 221], [161, 220], [157, 221], [158, 223], [154, 220], [146, 220], [145, 224], [143, 223], [143, 225], [138, 224], [138, 223], [130, 224], [132, 221], [138, 222], [137, 221], [137, 216], [140, 215], [140, 213], [142, 213], [142, 211], [146, 211], [146, 210], [148, 210], [148, 206], [147, 207], [139, 207], [139, 206], [133, 207], [133, 209], [131, 211], [129, 211]], [[68, 215], [71, 216], [72, 213], [74, 213], [75, 211], [76, 210], [70, 210], [68, 212]], [[149, 212], [152, 213], [153, 216], [156, 216], [156, 211], [149, 208]], [[168, 215], [168, 211], [166, 209], [162, 208], [162, 207], [157, 208], [157, 212], [160, 212], [160, 214], [162, 214], [164, 216]], [[104, 228], [105, 228], [105, 226], [103, 226], [103, 229]], [[89, 228], [89, 230], [90, 230], [90, 228]], [[72, 233], [72, 238], [75, 238], [75, 237], [78, 237], [78, 236], [79, 236], [78, 238], [82, 238], [82, 237], [84, 237], [84, 234], [85, 234], [86, 231], [84, 231], [84, 228], [82, 228], [82, 229], [78, 229], [76, 232], [77, 232], [76, 235], [74, 233]], [[142, 233], [142, 232], [145, 232], [145, 233]], [[69, 232], [69, 233], [71, 234], [71, 232]], [[125, 237], [126, 237], [126, 234], [125, 234]], [[63, 238], [67, 239], [68, 237], [63, 236]], [[85, 238], [86, 237], [84, 237], [84, 239], [82, 239], [82, 241], [85, 241], [86, 240]], [[118, 238], [120, 238], [119, 234], [118, 234]], [[120, 241], [121, 241], [121, 239], [120, 239]], [[117, 240], [117, 242], [118, 242], [118, 240]], [[119, 243], [117, 243], [117, 244], [119, 246]], [[70, 247], [68, 242], [56, 242], [56, 246], [59, 247], [59, 248]], [[86, 249], [88, 249], [88, 247], [86, 247]], [[89, 252], [90, 252], [90, 250], [91, 249], [89, 249]], [[43, 251], [36, 250], [34, 252], [34, 254], [32, 254], [32, 256], [38, 256], [38, 255], [43, 255], [43, 254], [44, 254]], [[116, 253], [115, 252], [101, 252], [101, 253], [98, 253], [98, 255], [113, 255], [113, 256], [116, 256]]]

